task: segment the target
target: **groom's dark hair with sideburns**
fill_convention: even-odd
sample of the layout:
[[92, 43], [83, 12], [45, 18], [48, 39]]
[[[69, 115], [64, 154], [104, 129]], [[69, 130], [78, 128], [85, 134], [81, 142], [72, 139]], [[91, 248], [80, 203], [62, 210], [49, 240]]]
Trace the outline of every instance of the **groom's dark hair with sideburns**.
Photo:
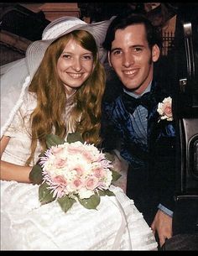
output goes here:
[[129, 13], [128, 15], [117, 15], [116, 18], [112, 19], [112, 23], [107, 29], [106, 39], [102, 44], [104, 49], [111, 50], [112, 41], [115, 39], [117, 29], [125, 29], [129, 25], [133, 24], [144, 24], [150, 49], [154, 44], [157, 44], [159, 49], [162, 48], [162, 36], [160, 30], [157, 27], [154, 27], [154, 25], [151, 24], [148, 18], [143, 14]]

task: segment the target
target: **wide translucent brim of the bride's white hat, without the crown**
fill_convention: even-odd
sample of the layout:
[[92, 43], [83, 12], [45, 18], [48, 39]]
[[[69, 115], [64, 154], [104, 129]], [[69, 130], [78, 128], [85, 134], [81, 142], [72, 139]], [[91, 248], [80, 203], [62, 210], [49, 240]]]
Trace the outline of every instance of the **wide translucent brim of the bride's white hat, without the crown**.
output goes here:
[[[94, 39], [96, 39], [96, 44], [99, 49], [102, 47], [102, 43], [105, 39], [107, 28], [110, 23], [111, 23], [111, 20], [105, 20], [105, 21], [93, 23], [93, 24], [77, 24], [76, 26], [73, 26], [72, 28], [67, 29], [65, 32], [60, 33], [54, 39], [44, 39], [44, 40], [34, 41], [32, 44], [29, 45], [26, 51], [26, 59], [27, 59], [27, 65], [29, 67], [30, 77], [32, 78], [34, 76], [34, 73], [37, 71], [41, 61], [44, 58], [45, 51], [47, 50], [49, 45], [55, 41], [55, 39], [58, 39], [65, 34], [69, 34], [74, 30], [79, 30], [79, 29], [86, 30], [87, 32], [93, 35]], [[102, 55], [103, 54], [104, 52], [102, 52]], [[99, 59], [100, 59], [100, 56], [99, 56]]]

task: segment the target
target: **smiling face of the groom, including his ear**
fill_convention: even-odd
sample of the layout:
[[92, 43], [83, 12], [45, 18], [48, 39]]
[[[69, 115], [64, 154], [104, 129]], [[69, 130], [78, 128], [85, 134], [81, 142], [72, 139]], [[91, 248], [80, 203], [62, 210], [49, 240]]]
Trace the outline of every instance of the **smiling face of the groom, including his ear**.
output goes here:
[[158, 59], [159, 47], [155, 44], [150, 50], [143, 24], [117, 29], [108, 60], [128, 90], [141, 94], [147, 88]]

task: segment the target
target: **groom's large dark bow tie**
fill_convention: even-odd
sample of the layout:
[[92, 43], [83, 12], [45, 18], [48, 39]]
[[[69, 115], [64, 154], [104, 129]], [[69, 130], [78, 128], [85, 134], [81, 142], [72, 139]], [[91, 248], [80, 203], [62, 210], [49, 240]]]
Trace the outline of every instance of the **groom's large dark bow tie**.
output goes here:
[[128, 93], [123, 92], [122, 102], [124, 103], [124, 106], [126, 107], [128, 112], [133, 114], [136, 107], [138, 107], [139, 105], [142, 105], [147, 109], [150, 109], [151, 107], [154, 106], [155, 100], [151, 92], [144, 93], [142, 97], [138, 97], [138, 98], [134, 98], [128, 95]]

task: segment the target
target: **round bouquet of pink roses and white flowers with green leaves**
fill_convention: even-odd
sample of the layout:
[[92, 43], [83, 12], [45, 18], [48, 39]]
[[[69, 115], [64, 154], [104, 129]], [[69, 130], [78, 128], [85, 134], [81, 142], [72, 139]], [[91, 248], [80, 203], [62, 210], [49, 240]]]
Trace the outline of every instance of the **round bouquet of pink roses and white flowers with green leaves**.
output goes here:
[[87, 209], [96, 209], [100, 196], [114, 196], [109, 186], [120, 175], [112, 170], [110, 154], [84, 143], [79, 133], [70, 133], [67, 141], [48, 134], [46, 142], [48, 149], [29, 175], [39, 184], [42, 204], [57, 200], [67, 212], [79, 201]]

